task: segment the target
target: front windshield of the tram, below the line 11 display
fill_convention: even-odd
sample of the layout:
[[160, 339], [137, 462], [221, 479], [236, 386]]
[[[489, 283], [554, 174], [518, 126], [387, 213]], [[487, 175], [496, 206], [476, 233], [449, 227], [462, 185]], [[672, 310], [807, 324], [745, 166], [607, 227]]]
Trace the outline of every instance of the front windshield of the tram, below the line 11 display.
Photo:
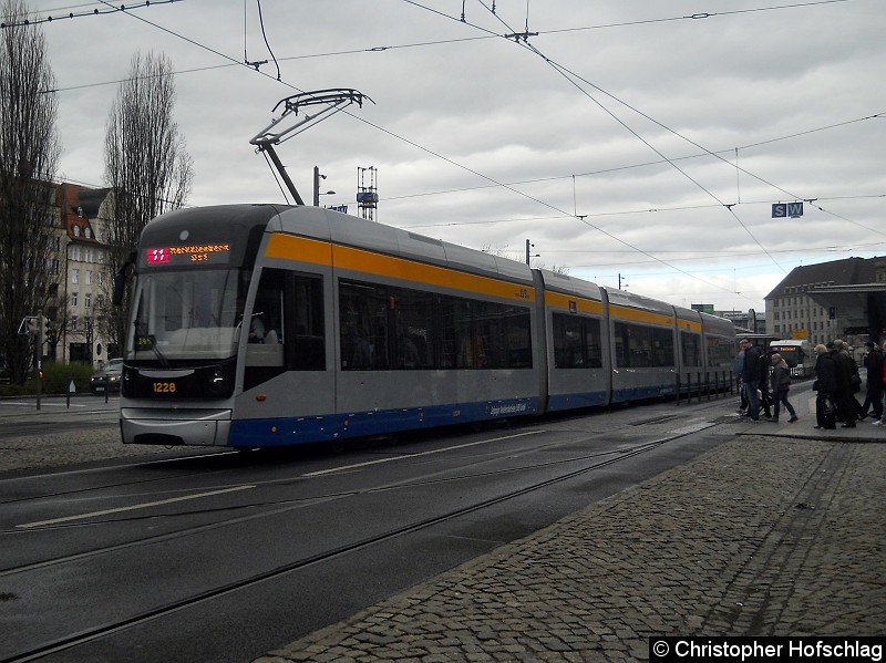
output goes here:
[[224, 360], [237, 353], [249, 272], [152, 271], [138, 277], [127, 359]]

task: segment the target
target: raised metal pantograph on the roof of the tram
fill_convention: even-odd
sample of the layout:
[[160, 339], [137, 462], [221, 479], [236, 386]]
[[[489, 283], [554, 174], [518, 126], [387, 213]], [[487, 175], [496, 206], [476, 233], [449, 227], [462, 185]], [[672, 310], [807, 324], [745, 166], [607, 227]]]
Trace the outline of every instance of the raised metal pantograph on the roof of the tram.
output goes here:
[[[277, 110], [282, 106], [284, 111], [280, 116], [271, 121], [268, 126], [261, 130], [249, 141], [251, 145], [255, 145], [258, 148], [258, 152], [267, 153], [267, 155], [274, 162], [274, 165], [279, 172], [280, 177], [282, 177], [286, 187], [289, 189], [289, 193], [292, 195], [292, 199], [297, 205], [305, 205], [305, 200], [299, 195], [298, 189], [296, 189], [296, 185], [292, 184], [292, 180], [286, 172], [286, 166], [284, 166], [280, 157], [277, 156], [277, 152], [274, 149], [274, 146], [285, 143], [289, 138], [293, 138], [301, 132], [307, 131], [327, 117], [331, 117], [351, 104], [357, 104], [362, 107], [364, 99], [372, 101], [362, 92], [351, 90], [350, 87], [315, 90], [313, 92], [302, 92], [300, 94], [287, 96], [286, 99], [277, 102], [277, 105], [271, 110], [271, 113], [276, 113]], [[374, 104], [375, 102], [372, 103]], [[296, 118], [300, 108], [318, 105], [322, 105], [323, 107], [312, 115], [303, 113], [300, 118], [296, 120], [295, 122], [287, 123], [285, 128], [280, 127], [280, 123], [282, 123], [287, 117], [290, 120]]]

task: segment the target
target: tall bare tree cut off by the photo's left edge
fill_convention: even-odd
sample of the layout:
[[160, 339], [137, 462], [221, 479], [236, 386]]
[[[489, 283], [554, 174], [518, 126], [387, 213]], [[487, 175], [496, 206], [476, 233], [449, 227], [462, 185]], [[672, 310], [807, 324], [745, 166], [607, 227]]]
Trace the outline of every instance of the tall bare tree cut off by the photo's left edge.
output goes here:
[[22, 0], [6, 0], [0, 11], [0, 346], [10, 380], [23, 383], [31, 352], [17, 332], [49, 299], [61, 144], [43, 33], [25, 22]]

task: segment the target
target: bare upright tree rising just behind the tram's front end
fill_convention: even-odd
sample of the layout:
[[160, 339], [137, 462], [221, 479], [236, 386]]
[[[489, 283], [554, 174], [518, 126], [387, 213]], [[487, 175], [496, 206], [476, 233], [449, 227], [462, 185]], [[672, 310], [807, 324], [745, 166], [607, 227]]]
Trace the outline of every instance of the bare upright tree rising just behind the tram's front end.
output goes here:
[[[193, 166], [173, 118], [173, 65], [164, 54], [136, 53], [107, 117], [105, 180], [113, 190], [109, 224], [110, 278], [135, 250], [142, 228], [154, 217], [182, 207], [190, 193]], [[106, 317], [103, 334], [123, 346], [128, 302]], [[110, 299], [110, 298], [109, 298]]]

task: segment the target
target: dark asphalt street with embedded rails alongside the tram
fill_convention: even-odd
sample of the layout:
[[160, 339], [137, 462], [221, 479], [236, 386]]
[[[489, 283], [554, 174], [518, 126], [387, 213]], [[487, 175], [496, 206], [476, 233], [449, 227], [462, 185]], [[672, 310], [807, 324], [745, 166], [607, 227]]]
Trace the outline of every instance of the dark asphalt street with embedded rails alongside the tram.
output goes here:
[[[0, 474], [0, 661], [250, 660], [717, 446], [733, 405]], [[110, 443], [92, 416], [70, 437]]]

